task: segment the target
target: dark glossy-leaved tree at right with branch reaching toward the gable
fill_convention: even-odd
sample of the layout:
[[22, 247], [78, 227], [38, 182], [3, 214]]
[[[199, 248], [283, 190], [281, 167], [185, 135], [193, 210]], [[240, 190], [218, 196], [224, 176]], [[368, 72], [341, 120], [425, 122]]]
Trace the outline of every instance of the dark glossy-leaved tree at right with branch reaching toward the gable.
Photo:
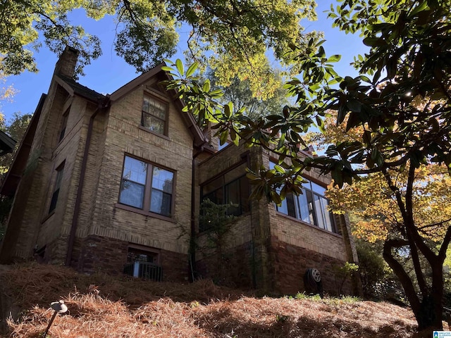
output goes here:
[[[380, 175], [399, 215], [397, 235], [387, 237], [383, 256], [404, 288], [419, 330], [441, 330], [443, 262], [451, 227], [447, 219], [418, 223], [414, 204], [416, 174], [425, 166], [443, 165], [440, 168], [451, 172], [451, 4], [449, 0], [340, 2], [329, 13], [334, 25], [346, 32], [360, 31], [371, 47], [356, 59], [361, 75], [340, 77], [332, 64], [340, 57], [326, 57], [321, 42], [312, 39], [307, 52], [293, 49], [300, 74], [287, 88], [297, 104], [283, 108], [281, 115], [251, 120], [243, 110], [233, 110], [233, 104], [218, 104], [220, 93], [199, 82], [192, 68], [185, 73], [180, 63], [166, 68], [174, 76], [169, 87], [179, 90], [187, 111], [198, 114], [199, 120], [215, 121], [221, 139], [230, 135], [235, 143], [263, 146], [278, 156], [274, 170], [249, 170], [254, 196], [280, 203], [288, 193], [299, 194], [302, 173], [310, 168], [330, 173], [338, 187]], [[312, 126], [324, 130], [330, 110], [337, 111], [336, 123], [347, 132], [360, 133], [359, 139], [330, 144], [324, 156], [299, 156], [299, 146], [306, 146], [302, 132]], [[402, 188], [393, 180], [397, 175], [405, 177]], [[431, 245], [422, 231], [425, 226], [437, 229], [439, 243]], [[396, 252], [402, 248], [412, 257], [419, 294], [397, 261]], [[428, 270], [430, 280], [425, 277]]]

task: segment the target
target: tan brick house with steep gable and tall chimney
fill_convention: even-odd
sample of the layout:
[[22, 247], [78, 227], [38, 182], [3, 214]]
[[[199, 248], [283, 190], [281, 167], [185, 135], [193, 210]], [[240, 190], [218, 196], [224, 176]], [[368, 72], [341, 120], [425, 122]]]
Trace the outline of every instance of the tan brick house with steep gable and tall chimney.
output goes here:
[[[347, 219], [326, 210], [328, 177], [313, 173], [306, 194], [282, 206], [249, 200], [245, 168], [271, 166], [270, 154], [218, 151], [161, 86], [161, 65], [103, 95], [73, 80], [77, 56], [63, 52], [1, 186], [14, 198], [2, 263], [35, 258], [177, 282], [220, 276], [279, 293], [306, 289], [306, 270], [317, 268], [323, 289], [336, 290], [335, 270], [357, 254]], [[199, 250], [211, 235], [199, 225], [204, 199], [233, 202], [219, 256]], [[356, 283], [345, 290], [357, 292]]]

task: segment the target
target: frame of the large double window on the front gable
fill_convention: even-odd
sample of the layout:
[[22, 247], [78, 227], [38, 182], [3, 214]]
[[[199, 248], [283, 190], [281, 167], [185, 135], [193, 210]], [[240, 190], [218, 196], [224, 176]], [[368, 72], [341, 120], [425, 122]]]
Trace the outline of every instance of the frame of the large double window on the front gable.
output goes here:
[[[142, 196], [142, 207], [139, 208], [137, 206], [132, 206], [131, 204], [126, 204], [124, 201], [121, 201], [121, 196], [123, 193], [123, 183], [124, 183], [124, 170], [125, 170], [125, 161], [126, 158], [131, 158], [135, 161], [140, 161], [141, 163], [145, 163], [147, 165], [146, 168], [146, 175], [145, 175], [145, 182], [144, 184], [140, 182], [135, 182], [132, 180], [128, 180], [130, 182], [133, 182], [134, 184], [141, 184], [144, 185], [144, 194]], [[163, 194], [169, 194], [168, 192], [164, 192], [161, 189], [157, 189], [154, 187], [154, 168], [159, 168], [161, 170], [166, 170], [169, 173], [172, 173], [172, 180], [171, 180], [171, 203], [169, 204], [171, 211], [170, 215], [166, 215], [165, 213], [158, 213], [156, 211], [151, 211], [150, 208], [152, 206], [152, 192], [153, 190], [158, 190], [163, 192]], [[142, 158], [137, 158], [136, 156], [132, 156], [130, 154], [125, 154], [123, 158], [123, 164], [122, 164], [122, 172], [121, 172], [121, 183], [119, 184], [119, 194], [118, 194], [118, 203], [116, 204], [116, 207], [122, 208], [128, 211], [132, 211], [135, 213], [141, 213], [143, 215], [152, 216], [154, 218], [161, 218], [163, 220], [174, 220], [175, 215], [175, 178], [176, 178], [176, 172], [175, 170], [172, 170], [170, 168], [166, 168], [162, 165], [153, 163], [151, 161], [143, 160]]]

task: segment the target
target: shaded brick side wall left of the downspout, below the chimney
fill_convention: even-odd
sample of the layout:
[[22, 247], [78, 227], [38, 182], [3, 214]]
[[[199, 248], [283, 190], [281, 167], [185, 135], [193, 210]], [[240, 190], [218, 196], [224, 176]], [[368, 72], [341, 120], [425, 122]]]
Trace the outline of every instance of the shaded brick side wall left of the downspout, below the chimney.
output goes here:
[[[66, 128], [67, 135], [58, 144], [62, 115], [70, 104], [73, 104], [73, 100], [68, 93], [56, 82], [52, 82], [8, 221], [8, 227], [14, 228], [13, 238], [8, 241], [8, 248], [2, 250], [2, 259], [30, 258], [35, 246], [39, 248], [54, 241], [63, 232], [64, 227], [68, 226], [66, 209], [73, 206], [71, 196], [74, 182], [71, 177], [81, 139], [78, 121], [83, 118], [86, 102], [80, 99], [74, 104], [75, 108], [71, 109]], [[55, 170], [65, 160], [57, 209], [49, 217]]]

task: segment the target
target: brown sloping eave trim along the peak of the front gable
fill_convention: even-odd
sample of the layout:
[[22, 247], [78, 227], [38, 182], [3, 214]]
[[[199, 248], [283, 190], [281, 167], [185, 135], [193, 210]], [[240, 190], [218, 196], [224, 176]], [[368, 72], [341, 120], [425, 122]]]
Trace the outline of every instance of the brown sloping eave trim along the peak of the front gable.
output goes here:
[[[168, 75], [164, 70], [161, 68], [165, 66], [166, 63], [160, 63], [159, 65], [156, 65], [156, 67], [152, 68], [151, 70], [147, 71], [146, 73], [143, 73], [142, 75], [135, 77], [135, 79], [131, 80], [127, 84], [124, 84], [121, 88], [117, 89], [115, 92], [113, 92], [110, 96], [110, 101], [118, 101], [119, 99], [122, 99], [123, 96], [127, 95], [128, 93], [132, 92], [133, 90], [137, 89], [137, 87], [140, 87], [142, 84], [149, 82], [149, 80], [152, 79], [152, 77], [155, 77], [159, 73], [161, 73], [164, 77], [166, 77], [167, 80], [172, 80], [172, 77]], [[175, 90], [168, 91], [169, 93], [175, 95], [177, 94]], [[208, 139], [200, 129], [199, 125], [196, 123], [196, 119], [191, 113], [183, 113], [182, 108], [185, 106], [185, 102], [183, 102], [182, 99], [177, 98], [175, 99], [175, 106], [180, 110], [180, 113], [182, 115], [183, 121], [185, 122], [185, 125], [188, 127], [192, 135], [194, 136], [194, 146], [202, 147], [204, 144], [208, 142]]]

